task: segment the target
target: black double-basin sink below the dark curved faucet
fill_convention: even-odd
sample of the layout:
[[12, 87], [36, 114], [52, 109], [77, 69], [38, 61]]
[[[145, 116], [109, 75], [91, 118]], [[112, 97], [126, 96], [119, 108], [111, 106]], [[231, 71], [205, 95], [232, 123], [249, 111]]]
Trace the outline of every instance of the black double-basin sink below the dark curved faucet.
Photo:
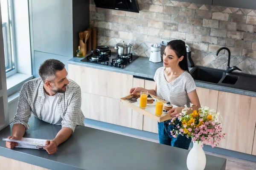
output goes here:
[[254, 75], [235, 72], [227, 75], [224, 70], [201, 66], [192, 68], [190, 74], [198, 82], [256, 92], [256, 76]]

